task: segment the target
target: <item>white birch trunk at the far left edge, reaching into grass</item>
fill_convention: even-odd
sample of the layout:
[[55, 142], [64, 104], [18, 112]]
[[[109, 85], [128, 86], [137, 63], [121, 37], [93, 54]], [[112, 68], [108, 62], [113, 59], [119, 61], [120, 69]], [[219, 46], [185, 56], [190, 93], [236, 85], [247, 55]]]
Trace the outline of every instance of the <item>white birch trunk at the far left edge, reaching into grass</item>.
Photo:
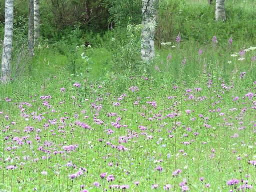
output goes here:
[[5, 36], [2, 53], [2, 83], [7, 83], [11, 79], [11, 57], [13, 46], [13, 20], [14, 20], [14, 0], [5, 0]]

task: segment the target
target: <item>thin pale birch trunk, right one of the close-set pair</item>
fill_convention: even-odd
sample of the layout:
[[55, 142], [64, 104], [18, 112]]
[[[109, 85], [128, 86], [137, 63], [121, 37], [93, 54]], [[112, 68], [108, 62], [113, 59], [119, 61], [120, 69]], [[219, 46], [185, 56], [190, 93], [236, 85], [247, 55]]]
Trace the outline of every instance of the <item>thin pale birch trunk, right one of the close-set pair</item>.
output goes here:
[[38, 45], [40, 36], [39, 0], [34, 0], [34, 45]]

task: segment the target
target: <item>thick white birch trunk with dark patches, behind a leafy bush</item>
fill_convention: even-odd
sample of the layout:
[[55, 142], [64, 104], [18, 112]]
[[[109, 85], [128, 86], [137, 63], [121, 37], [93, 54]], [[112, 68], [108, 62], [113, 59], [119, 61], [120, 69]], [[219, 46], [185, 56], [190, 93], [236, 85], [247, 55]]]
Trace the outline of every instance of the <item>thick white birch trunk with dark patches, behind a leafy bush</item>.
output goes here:
[[141, 58], [149, 62], [155, 56], [154, 33], [158, 0], [142, 0]]

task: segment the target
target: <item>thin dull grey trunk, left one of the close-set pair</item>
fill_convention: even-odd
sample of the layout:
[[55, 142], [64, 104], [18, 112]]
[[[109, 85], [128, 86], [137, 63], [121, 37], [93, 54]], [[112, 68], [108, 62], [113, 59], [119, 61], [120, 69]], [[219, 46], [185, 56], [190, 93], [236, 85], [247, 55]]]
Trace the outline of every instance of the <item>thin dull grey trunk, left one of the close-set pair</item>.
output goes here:
[[34, 55], [34, 0], [29, 0], [29, 32], [28, 32], [29, 55]]

